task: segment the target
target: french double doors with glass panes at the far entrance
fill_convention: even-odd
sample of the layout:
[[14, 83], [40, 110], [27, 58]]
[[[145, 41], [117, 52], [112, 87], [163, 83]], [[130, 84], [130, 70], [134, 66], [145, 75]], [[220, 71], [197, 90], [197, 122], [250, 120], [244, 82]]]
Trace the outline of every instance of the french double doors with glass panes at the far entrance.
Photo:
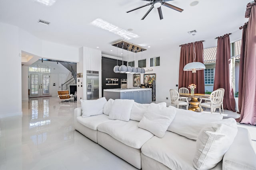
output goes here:
[[51, 96], [50, 95], [50, 74], [29, 73], [30, 98]]

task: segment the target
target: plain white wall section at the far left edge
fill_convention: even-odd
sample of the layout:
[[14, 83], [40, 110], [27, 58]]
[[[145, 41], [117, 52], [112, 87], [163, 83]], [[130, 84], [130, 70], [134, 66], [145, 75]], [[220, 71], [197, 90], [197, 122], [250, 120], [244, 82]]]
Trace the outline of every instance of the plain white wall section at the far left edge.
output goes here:
[[21, 55], [18, 37], [18, 27], [0, 23], [0, 117], [22, 115]]

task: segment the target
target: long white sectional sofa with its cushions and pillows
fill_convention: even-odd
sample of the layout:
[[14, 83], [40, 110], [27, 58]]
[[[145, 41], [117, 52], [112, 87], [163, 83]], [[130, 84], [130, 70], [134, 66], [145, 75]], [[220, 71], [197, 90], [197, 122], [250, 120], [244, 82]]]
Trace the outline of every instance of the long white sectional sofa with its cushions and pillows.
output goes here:
[[[219, 128], [220, 131], [217, 132], [220, 132], [220, 135], [214, 137], [215, 141], [212, 141], [215, 143], [212, 142], [211, 147], [204, 147], [200, 150], [202, 145], [200, 142], [203, 142], [206, 136], [202, 129], [206, 128], [207, 132], [212, 127], [218, 129], [215, 125], [220, 125], [219, 122], [223, 121], [220, 114], [196, 113], [171, 106], [166, 107], [166, 103], [138, 104], [129, 100], [109, 100], [108, 102], [104, 101], [106, 100], [104, 98], [99, 100], [101, 100], [101, 104], [94, 105], [94, 108], [92, 102], [97, 103], [98, 101], [90, 101], [91, 103], [82, 101], [82, 107], [74, 110], [75, 129], [138, 169], [211, 169], [206, 168], [207, 164], [212, 165], [215, 161], [216, 166], [214, 164], [212, 168], [214, 170], [256, 170], [256, 154], [250, 143], [248, 130], [239, 127], [235, 127], [237, 130], [234, 131], [228, 129], [234, 129], [232, 120], [226, 121], [233, 123], [232, 125], [227, 123], [226, 126]], [[83, 116], [82, 110], [87, 113], [92, 110], [97, 111]], [[162, 112], [167, 113], [168, 111], [173, 112], [170, 114], [175, 117], [169, 117], [172, 120], [165, 121], [164, 119], [169, 118]], [[152, 115], [153, 112], [156, 114]], [[154, 117], [158, 114], [162, 117]], [[218, 123], [214, 124], [214, 122]], [[160, 129], [165, 128], [163, 137], [162, 133], [156, 131], [159, 127]], [[233, 134], [233, 139], [226, 137], [229, 134], [223, 135], [225, 129], [226, 133], [230, 133], [231, 136]], [[212, 134], [215, 132], [210, 135]], [[223, 136], [226, 138], [222, 139]], [[224, 151], [222, 150], [223, 153], [217, 160], [214, 156], [216, 149], [219, 148]], [[207, 153], [204, 154], [206, 150]], [[198, 152], [202, 153], [196, 162], [195, 155], [198, 155]], [[203, 156], [206, 157], [202, 161]]]

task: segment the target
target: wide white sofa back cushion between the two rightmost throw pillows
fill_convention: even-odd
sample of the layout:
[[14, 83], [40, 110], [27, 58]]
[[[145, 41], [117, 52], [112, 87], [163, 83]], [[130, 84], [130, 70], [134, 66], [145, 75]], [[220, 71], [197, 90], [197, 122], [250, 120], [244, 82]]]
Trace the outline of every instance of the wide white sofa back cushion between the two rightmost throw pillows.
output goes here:
[[198, 113], [185, 109], [177, 109], [176, 107], [172, 108], [176, 109], [176, 116], [167, 130], [193, 140], [197, 139], [204, 125], [223, 118], [221, 114]]

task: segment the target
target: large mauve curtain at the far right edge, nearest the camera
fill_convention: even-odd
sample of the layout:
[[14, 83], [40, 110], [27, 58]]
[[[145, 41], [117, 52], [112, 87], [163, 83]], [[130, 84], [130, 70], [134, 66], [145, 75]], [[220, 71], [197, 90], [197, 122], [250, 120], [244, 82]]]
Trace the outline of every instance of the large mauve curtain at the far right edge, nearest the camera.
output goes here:
[[248, 17], [240, 123], [256, 125], [256, 0], [247, 5]]

